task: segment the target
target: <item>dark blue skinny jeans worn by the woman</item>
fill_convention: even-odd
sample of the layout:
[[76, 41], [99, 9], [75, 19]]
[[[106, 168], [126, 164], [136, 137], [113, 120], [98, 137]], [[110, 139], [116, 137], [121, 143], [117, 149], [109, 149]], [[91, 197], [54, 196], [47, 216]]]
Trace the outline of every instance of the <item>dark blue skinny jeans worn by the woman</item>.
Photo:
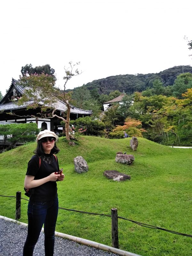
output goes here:
[[39, 238], [43, 224], [45, 256], [53, 255], [58, 207], [58, 198], [47, 202], [29, 201], [28, 235], [23, 248], [23, 256], [33, 255], [33, 250]]

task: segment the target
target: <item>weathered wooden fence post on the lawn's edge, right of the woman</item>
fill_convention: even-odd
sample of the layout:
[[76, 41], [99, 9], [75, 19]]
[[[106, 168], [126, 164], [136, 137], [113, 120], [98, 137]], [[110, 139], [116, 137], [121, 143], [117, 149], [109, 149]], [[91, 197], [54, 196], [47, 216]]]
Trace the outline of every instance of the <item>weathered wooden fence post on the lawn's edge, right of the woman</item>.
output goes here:
[[119, 249], [117, 209], [111, 209], [112, 246]]

